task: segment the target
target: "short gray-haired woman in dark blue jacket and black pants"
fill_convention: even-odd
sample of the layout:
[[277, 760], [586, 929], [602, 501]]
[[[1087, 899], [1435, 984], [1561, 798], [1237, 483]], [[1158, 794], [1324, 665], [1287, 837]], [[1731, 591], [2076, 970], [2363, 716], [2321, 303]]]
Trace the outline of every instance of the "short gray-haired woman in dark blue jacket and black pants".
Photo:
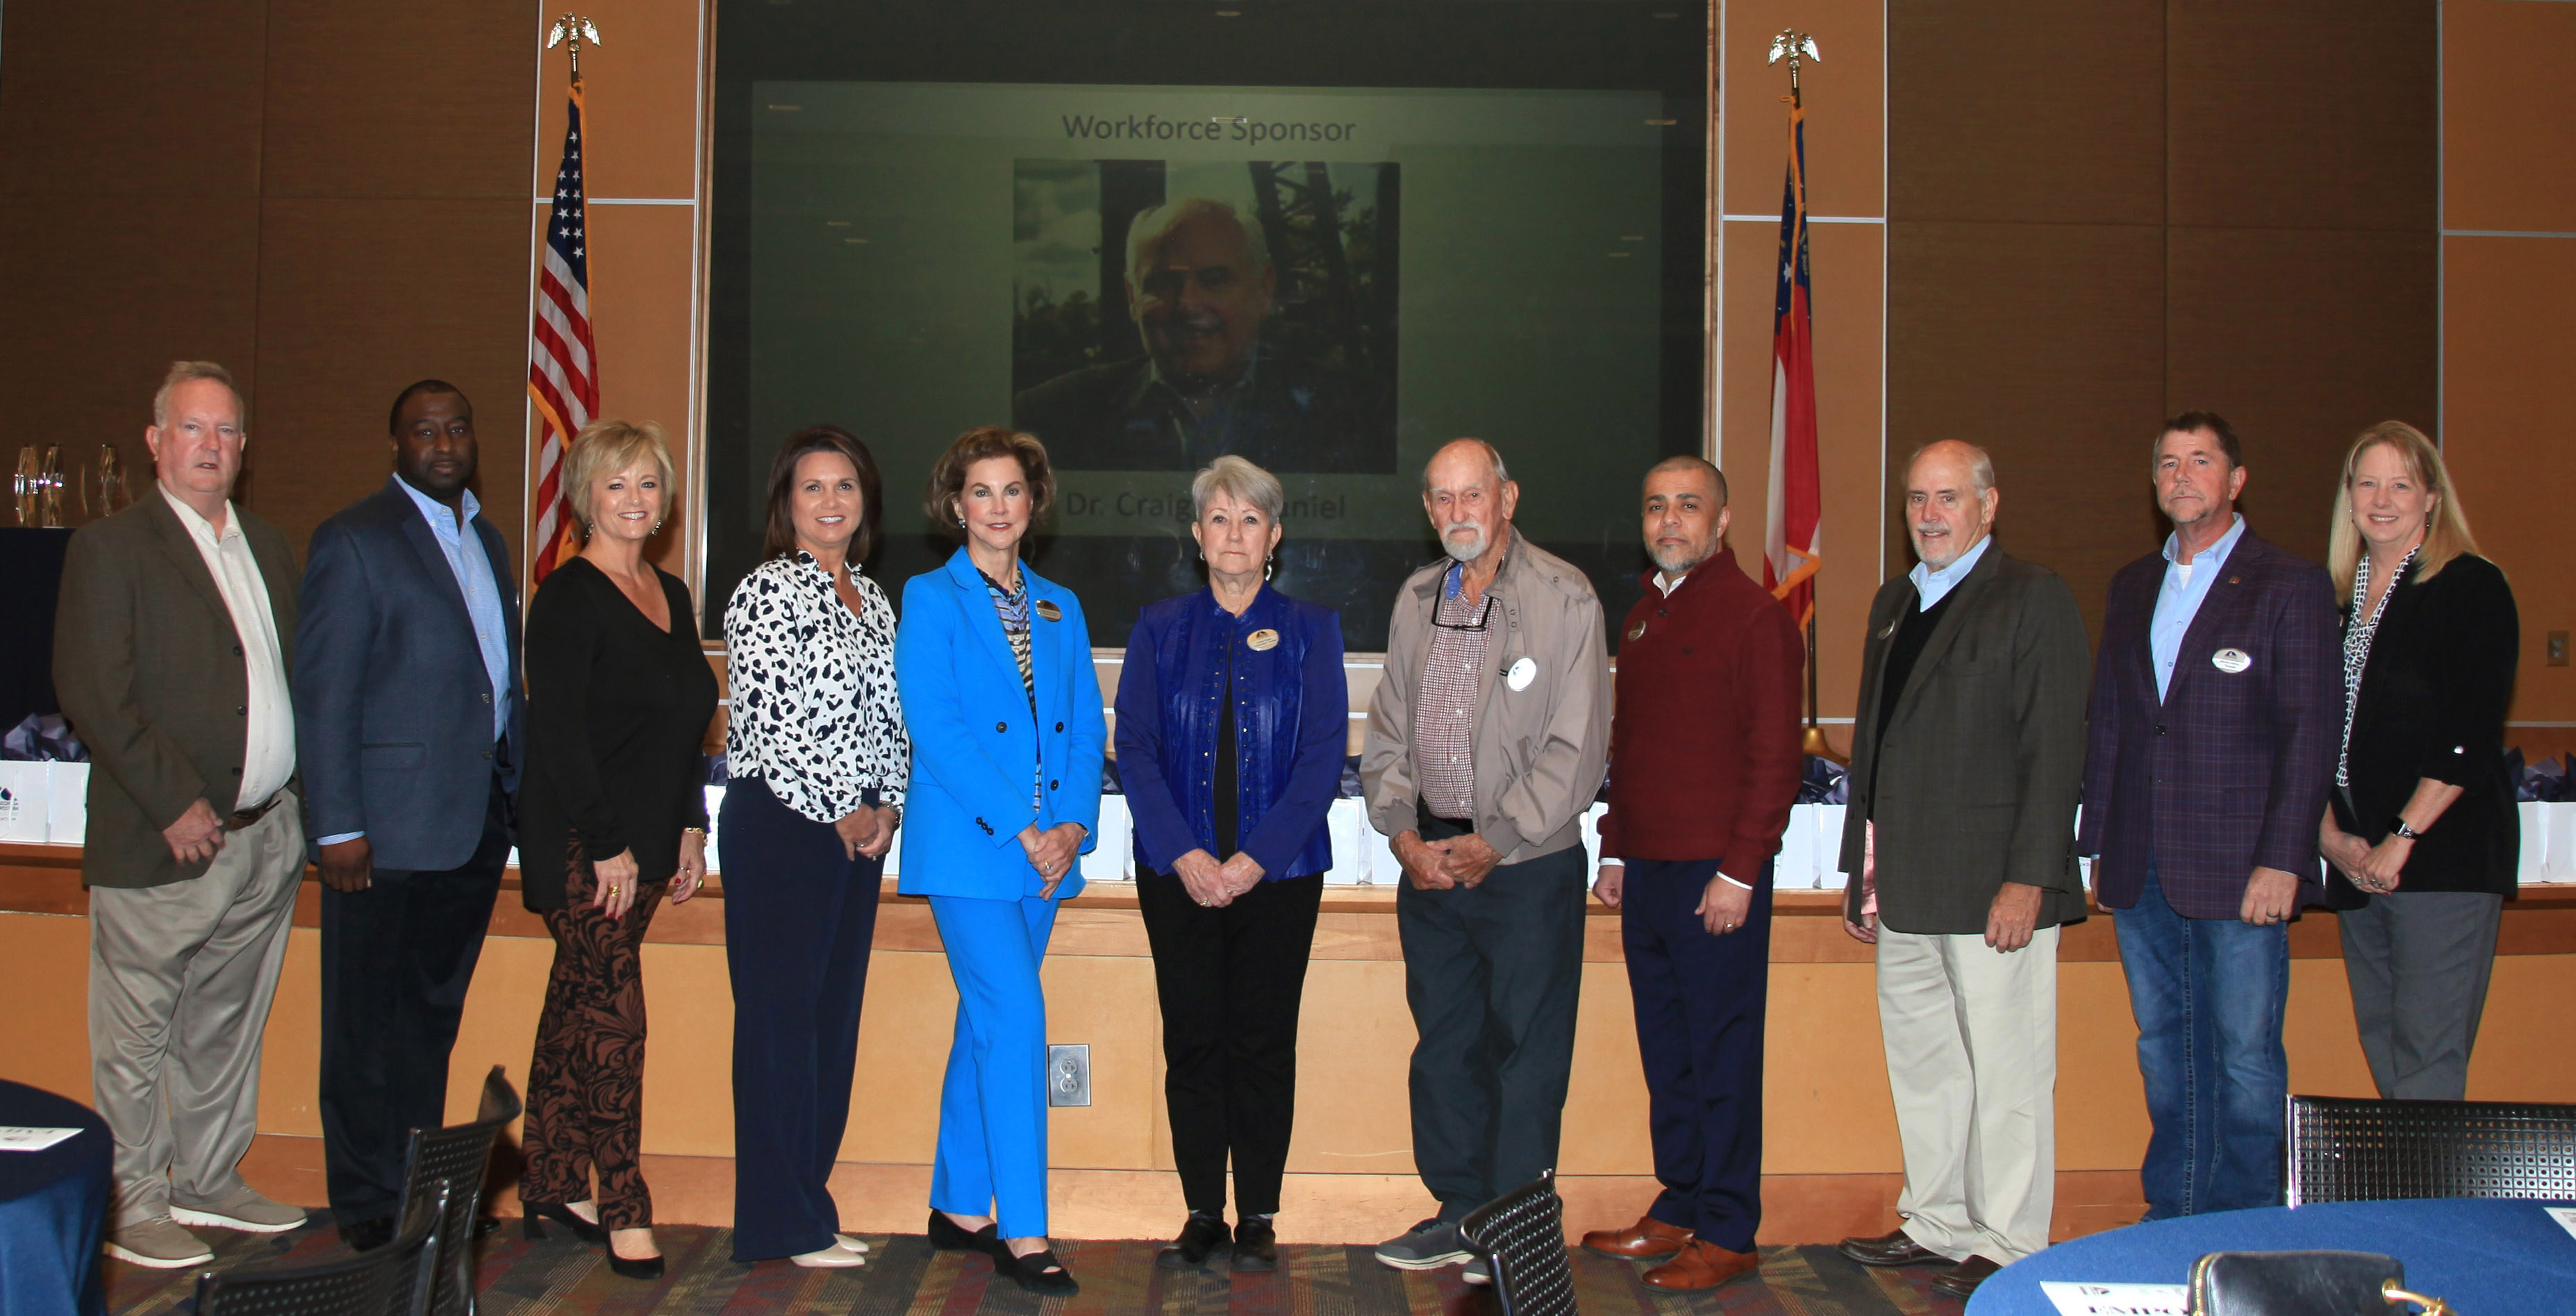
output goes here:
[[[1118, 780], [1162, 997], [1164, 1102], [1190, 1221], [1154, 1257], [1275, 1270], [1296, 1115], [1296, 1015], [1332, 868], [1350, 693], [1342, 618], [1267, 582], [1280, 482], [1221, 456], [1190, 484], [1208, 587], [1136, 618], [1118, 677]], [[1234, 1228], [1226, 1228], [1226, 1159]]]

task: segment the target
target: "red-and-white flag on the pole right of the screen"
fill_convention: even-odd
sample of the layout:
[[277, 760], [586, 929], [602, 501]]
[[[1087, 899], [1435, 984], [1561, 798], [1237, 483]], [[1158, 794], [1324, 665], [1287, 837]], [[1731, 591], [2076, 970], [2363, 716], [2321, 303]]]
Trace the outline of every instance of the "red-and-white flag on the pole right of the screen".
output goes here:
[[1780, 196], [1780, 286], [1772, 299], [1772, 469], [1762, 585], [1803, 628], [1816, 616], [1824, 479], [1816, 469], [1816, 350], [1806, 283], [1806, 111], [1788, 111], [1788, 188]]

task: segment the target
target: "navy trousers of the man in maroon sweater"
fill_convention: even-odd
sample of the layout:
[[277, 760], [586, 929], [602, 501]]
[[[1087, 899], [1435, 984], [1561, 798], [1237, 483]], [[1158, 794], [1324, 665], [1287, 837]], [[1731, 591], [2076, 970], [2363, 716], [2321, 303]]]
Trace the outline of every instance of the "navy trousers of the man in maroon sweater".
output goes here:
[[1692, 907], [1718, 860], [1628, 860], [1620, 950], [1646, 1061], [1654, 1177], [1646, 1210], [1728, 1252], [1762, 1226], [1762, 1010], [1770, 997], [1772, 868], [1744, 927], [1710, 935]]

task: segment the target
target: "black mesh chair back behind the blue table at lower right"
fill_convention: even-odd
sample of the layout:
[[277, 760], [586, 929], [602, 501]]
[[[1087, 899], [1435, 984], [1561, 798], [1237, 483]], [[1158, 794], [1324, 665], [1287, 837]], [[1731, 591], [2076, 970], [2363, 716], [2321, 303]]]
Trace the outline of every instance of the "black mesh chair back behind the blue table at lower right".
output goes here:
[[2576, 1200], [2576, 1105], [2290, 1097], [2282, 1198]]

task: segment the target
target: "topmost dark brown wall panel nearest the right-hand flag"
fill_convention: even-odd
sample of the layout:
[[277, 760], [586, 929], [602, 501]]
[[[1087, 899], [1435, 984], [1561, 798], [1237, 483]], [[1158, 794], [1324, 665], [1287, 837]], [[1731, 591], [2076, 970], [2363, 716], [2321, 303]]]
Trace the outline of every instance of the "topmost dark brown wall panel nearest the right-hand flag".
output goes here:
[[2161, 221], [2164, 3], [1888, 0], [1888, 219]]

